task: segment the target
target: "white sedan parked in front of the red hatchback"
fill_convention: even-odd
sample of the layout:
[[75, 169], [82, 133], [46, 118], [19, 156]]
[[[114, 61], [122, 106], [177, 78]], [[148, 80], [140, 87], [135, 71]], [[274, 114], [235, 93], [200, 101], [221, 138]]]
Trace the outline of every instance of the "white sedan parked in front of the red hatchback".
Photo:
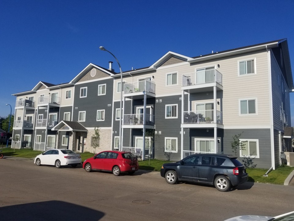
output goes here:
[[81, 162], [81, 155], [69, 149], [47, 150], [44, 153], [36, 156], [34, 161], [37, 166], [55, 165], [57, 168], [67, 165], [76, 167], [78, 164], [81, 164]]

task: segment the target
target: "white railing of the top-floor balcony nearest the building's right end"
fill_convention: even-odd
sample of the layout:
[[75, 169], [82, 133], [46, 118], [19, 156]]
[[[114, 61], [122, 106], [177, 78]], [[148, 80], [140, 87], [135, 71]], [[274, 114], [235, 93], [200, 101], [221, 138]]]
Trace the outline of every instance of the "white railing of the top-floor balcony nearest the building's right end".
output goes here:
[[222, 85], [222, 74], [215, 69], [183, 74], [182, 86], [217, 82]]

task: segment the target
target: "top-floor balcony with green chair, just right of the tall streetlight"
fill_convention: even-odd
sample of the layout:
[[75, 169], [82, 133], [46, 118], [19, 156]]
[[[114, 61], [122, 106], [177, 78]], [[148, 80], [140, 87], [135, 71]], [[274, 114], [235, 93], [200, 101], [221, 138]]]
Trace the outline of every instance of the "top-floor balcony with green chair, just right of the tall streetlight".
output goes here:
[[144, 94], [149, 97], [155, 97], [155, 83], [151, 80], [125, 83], [123, 96], [132, 99], [142, 99]]

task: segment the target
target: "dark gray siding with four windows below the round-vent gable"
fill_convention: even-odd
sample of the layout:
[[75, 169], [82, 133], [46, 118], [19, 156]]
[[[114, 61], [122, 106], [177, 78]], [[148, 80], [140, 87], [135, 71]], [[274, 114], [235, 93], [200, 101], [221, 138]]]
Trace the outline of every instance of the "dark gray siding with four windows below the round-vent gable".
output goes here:
[[[98, 85], [106, 84], [106, 94], [98, 96]], [[87, 97], [80, 98], [80, 88], [87, 87]], [[74, 89], [73, 121], [78, 121], [79, 111], [86, 111], [85, 127], [111, 127], [113, 79], [77, 84]], [[110, 105], [110, 106], [108, 106]], [[104, 121], [96, 121], [97, 110], [105, 110]]]

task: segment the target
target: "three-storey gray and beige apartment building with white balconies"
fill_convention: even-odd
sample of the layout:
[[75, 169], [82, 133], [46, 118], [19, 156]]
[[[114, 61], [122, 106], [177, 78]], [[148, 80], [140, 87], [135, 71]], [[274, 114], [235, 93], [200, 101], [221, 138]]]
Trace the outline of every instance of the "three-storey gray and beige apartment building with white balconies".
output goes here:
[[40, 81], [13, 94], [13, 147], [118, 149], [121, 89], [122, 149], [142, 159], [233, 154], [233, 136], [241, 134], [240, 160], [275, 169], [289, 149], [294, 86], [286, 39], [197, 57], [168, 52], [150, 67], [123, 72], [123, 85], [111, 63], [89, 64], [69, 83]]

